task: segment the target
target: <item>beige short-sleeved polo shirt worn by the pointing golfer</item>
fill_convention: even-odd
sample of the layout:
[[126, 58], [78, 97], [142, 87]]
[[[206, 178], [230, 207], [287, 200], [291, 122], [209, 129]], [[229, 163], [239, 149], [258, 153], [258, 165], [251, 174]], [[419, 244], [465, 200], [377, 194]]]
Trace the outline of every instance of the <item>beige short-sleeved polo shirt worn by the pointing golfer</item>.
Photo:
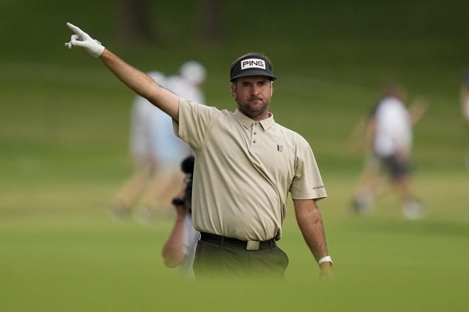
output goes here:
[[174, 133], [195, 153], [192, 224], [242, 240], [280, 238], [288, 192], [326, 197], [308, 142], [274, 121], [254, 121], [179, 98]]

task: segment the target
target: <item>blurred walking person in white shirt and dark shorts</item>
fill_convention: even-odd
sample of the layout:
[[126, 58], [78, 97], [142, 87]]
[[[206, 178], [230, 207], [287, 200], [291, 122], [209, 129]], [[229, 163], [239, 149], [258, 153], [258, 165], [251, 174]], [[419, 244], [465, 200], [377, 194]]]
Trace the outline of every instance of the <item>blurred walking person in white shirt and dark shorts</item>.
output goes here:
[[[425, 208], [413, 194], [410, 174], [412, 126], [424, 115], [427, 105], [422, 99], [417, 99], [407, 110], [405, 98], [401, 86], [388, 85], [366, 123], [360, 123], [365, 124], [365, 164], [353, 201], [357, 213], [368, 212], [375, 199], [389, 191], [389, 183], [380, 176], [384, 168], [400, 195], [405, 217], [418, 219], [426, 214]], [[353, 133], [356, 136], [357, 131]], [[354, 144], [357, 144], [356, 140]]]

